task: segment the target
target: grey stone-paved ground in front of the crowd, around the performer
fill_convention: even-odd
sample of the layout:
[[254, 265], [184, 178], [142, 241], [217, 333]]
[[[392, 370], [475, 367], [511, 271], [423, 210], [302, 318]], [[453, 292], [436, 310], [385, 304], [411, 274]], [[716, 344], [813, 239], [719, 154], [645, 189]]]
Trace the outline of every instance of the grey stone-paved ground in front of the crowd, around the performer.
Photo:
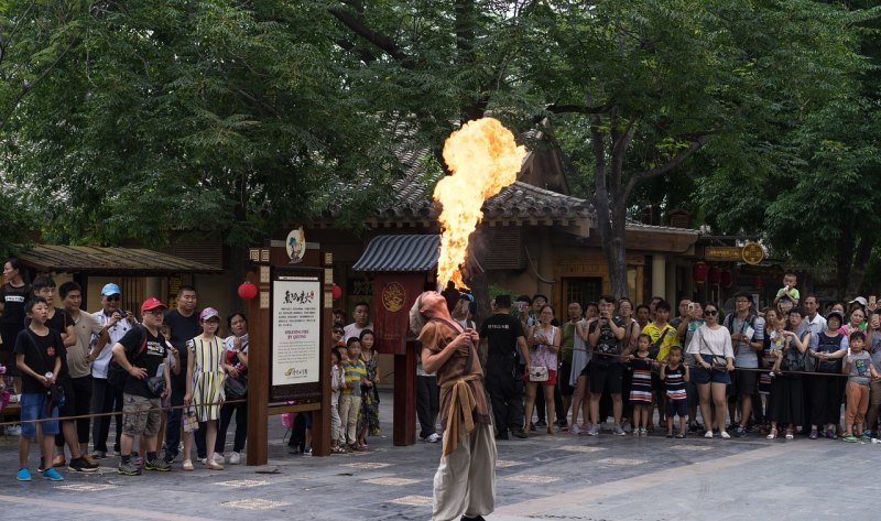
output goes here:
[[[391, 395], [383, 397], [383, 420]], [[326, 458], [290, 456], [280, 420], [270, 420], [271, 466], [224, 471], [178, 468], [122, 477], [63, 473], [59, 484], [15, 481], [17, 448], [0, 443], [0, 511], [58, 519], [422, 520], [431, 514], [439, 444]], [[391, 432], [390, 424], [383, 431]], [[2, 439], [0, 438], [0, 442]], [[535, 519], [667, 521], [688, 519], [872, 518], [881, 444], [840, 441], [666, 439], [558, 435], [500, 442], [496, 521]], [[36, 454], [32, 453], [36, 462]], [[33, 467], [32, 466], [32, 467]], [[262, 473], [271, 474], [262, 474]]]

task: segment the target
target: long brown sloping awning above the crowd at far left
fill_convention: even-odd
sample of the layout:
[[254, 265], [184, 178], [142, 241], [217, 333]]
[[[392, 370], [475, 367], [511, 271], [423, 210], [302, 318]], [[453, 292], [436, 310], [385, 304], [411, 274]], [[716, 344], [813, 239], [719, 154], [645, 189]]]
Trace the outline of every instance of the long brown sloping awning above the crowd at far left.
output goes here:
[[224, 272], [217, 267], [140, 248], [34, 246], [18, 257], [29, 268], [54, 273], [138, 276]]

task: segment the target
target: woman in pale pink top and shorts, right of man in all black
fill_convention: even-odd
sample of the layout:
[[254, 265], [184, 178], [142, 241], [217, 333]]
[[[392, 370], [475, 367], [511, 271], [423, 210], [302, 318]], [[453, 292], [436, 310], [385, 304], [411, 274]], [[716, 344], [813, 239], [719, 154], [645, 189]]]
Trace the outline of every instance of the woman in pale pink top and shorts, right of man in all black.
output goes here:
[[[535, 392], [539, 384], [544, 390], [544, 403], [547, 417], [555, 417], [554, 387], [557, 384], [557, 352], [559, 352], [559, 328], [551, 325], [554, 319], [554, 308], [545, 305], [539, 313], [539, 324], [530, 328], [526, 345], [530, 346], [530, 361], [532, 362], [526, 380], [526, 405], [524, 433], [530, 432], [532, 423], [532, 408], [535, 405]], [[554, 425], [547, 425], [547, 434], [556, 434]]]

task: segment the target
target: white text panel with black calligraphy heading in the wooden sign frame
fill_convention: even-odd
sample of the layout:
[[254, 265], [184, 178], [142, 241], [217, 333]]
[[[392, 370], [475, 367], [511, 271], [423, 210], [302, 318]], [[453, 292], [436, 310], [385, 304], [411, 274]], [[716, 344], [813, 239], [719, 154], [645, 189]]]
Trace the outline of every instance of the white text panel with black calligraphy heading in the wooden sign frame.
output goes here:
[[324, 270], [273, 268], [270, 401], [320, 401]]

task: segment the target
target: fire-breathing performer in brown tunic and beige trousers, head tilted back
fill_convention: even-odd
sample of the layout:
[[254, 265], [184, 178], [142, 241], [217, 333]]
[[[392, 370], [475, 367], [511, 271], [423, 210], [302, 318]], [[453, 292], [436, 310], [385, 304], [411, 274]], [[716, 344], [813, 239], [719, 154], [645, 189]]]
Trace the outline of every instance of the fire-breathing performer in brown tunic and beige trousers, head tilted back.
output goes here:
[[434, 476], [432, 519], [482, 520], [494, 509], [496, 441], [477, 354], [478, 334], [463, 329], [447, 301], [429, 291], [410, 310], [410, 327], [422, 343], [422, 366], [437, 373], [444, 454]]

